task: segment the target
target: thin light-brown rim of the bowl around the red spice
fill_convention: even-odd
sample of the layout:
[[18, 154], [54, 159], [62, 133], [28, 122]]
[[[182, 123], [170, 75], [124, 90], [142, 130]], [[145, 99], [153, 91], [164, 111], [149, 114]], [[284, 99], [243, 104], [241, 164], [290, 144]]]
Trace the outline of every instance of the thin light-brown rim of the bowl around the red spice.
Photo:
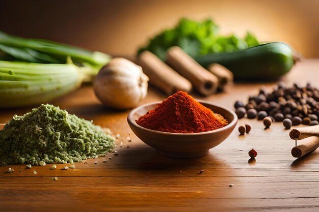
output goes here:
[[219, 106], [219, 105], [216, 105], [216, 104], [212, 104], [210, 102], [207, 102], [207, 101], [202, 101], [202, 100], [196, 100], [198, 101], [199, 103], [204, 103], [204, 104], [208, 104], [208, 105], [212, 105], [212, 106], [215, 106], [215, 107], [219, 107], [221, 109], [224, 109], [226, 111], [228, 111], [230, 114], [233, 115], [233, 119], [230, 123], [228, 123], [228, 125], [222, 127], [222, 128], [219, 128], [219, 129], [216, 129], [216, 130], [210, 130], [210, 131], [206, 131], [206, 132], [200, 132], [200, 133], [171, 133], [171, 132], [163, 132], [163, 131], [158, 131], [158, 130], [151, 130], [151, 129], [148, 129], [148, 128], [145, 128], [145, 127], [142, 127], [140, 125], [138, 125], [135, 121], [135, 119], [133, 118], [133, 114], [136, 113], [137, 110], [143, 108], [143, 107], [147, 107], [147, 106], [150, 106], [150, 105], [154, 105], [154, 104], [160, 104], [162, 103], [163, 101], [157, 101], [157, 102], [151, 102], [151, 103], [147, 103], [147, 104], [144, 104], [144, 105], [141, 105], [139, 107], [136, 107], [134, 109], [132, 109], [128, 115], [127, 115], [127, 122], [129, 125], [134, 125], [136, 128], [140, 128], [144, 131], [148, 131], [150, 133], [159, 133], [159, 134], [163, 134], [163, 135], [172, 135], [172, 136], [199, 136], [199, 135], [205, 135], [205, 134], [210, 134], [210, 133], [218, 133], [218, 132], [222, 132], [222, 131], [225, 131], [227, 130], [228, 128], [232, 128], [233, 125], [236, 125], [237, 124], [237, 121], [238, 121], [238, 118], [237, 118], [237, 115], [234, 111], [232, 110], [229, 110], [225, 107], [222, 107], [222, 106]]

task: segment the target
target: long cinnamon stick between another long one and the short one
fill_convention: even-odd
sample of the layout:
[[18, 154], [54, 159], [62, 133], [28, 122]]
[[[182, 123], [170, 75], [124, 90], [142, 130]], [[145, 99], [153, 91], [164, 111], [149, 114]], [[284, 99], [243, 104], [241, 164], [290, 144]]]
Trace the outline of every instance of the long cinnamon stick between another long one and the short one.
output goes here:
[[180, 75], [190, 80], [200, 94], [208, 96], [216, 93], [218, 78], [178, 46], [168, 49], [167, 63]]

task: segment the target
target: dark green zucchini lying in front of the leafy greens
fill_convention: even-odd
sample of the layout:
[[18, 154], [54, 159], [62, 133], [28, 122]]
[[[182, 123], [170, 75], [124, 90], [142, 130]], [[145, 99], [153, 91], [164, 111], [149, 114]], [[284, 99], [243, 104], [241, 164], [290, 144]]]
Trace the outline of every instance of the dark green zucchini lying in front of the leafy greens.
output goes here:
[[294, 65], [293, 50], [280, 42], [261, 44], [236, 52], [195, 58], [205, 68], [217, 63], [228, 68], [235, 80], [275, 80]]

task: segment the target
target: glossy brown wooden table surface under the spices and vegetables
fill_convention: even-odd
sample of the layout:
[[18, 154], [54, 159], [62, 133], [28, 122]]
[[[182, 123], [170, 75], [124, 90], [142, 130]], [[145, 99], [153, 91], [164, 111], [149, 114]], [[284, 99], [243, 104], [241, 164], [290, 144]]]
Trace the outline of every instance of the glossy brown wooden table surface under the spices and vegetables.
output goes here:
[[[302, 60], [282, 80], [319, 87], [319, 59]], [[271, 89], [275, 84], [241, 83], [210, 97], [192, 95], [233, 109], [235, 100], [246, 102], [261, 85]], [[165, 98], [150, 88], [141, 104]], [[238, 136], [236, 127], [207, 156], [174, 159], [158, 155], [138, 139], [126, 122], [129, 110], [103, 107], [90, 85], [52, 104], [132, 141], [117, 140], [123, 146], [116, 148], [118, 156], [104, 157], [106, 163], [90, 159], [68, 170], [61, 170], [63, 164], [56, 170], [50, 165], [0, 167], [0, 211], [319, 211], [319, 150], [293, 158], [295, 142], [281, 123], [263, 130], [262, 122], [240, 119], [238, 125], [252, 126], [249, 134]], [[0, 110], [0, 123], [30, 109]], [[258, 152], [254, 161], [248, 156], [251, 148]], [[5, 173], [9, 167], [15, 171]], [[58, 180], [52, 179], [55, 176]]]

